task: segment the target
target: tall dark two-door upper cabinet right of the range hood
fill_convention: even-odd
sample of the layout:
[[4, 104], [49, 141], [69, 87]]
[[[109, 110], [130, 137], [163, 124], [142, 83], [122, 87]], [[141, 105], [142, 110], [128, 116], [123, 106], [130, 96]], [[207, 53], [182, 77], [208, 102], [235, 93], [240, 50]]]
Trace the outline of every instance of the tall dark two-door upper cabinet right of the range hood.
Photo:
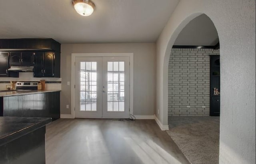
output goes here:
[[54, 77], [54, 52], [36, 52], [34, 55], [34, 77]]

